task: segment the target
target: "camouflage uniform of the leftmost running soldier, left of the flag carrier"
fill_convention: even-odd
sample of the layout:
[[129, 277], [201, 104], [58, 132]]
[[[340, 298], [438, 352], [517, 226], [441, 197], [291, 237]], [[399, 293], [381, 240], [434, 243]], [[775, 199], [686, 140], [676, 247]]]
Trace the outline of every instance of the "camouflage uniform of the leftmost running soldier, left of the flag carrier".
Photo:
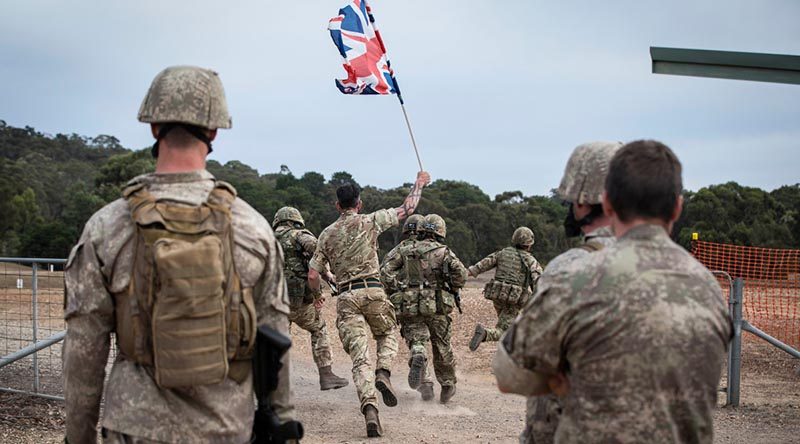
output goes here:
[[284, 273], [289, 290], [291, 313], [289, 322], [311, 333], [311, 353], [317, 368], [330, 367], [331, 346], [328, 328], [319, 310], [314, 307], [316, 299], [308, 288], [308, 266], [303, 256], [311, 257], [317, 248], [317, 238], [308, 230], [278, 226], [275, 237], [283, 247]]

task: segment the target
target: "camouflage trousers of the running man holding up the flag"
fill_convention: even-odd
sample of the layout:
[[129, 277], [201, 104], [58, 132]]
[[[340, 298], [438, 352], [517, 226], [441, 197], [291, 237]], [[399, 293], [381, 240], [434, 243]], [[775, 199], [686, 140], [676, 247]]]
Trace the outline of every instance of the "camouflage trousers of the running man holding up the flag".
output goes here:
[[[398, 349], [394, 336], [397, 326], [394, 306], [382, 288], [362, 288], [339, 295], [336, 313], [339, 339], [353, 361], [353, 383], [361, 401], [361, 411], [369, 404], [377, 407], [375, 369], [391, 371]], [[369, 357], [370, 332], [378, 348], [375, 368]]]

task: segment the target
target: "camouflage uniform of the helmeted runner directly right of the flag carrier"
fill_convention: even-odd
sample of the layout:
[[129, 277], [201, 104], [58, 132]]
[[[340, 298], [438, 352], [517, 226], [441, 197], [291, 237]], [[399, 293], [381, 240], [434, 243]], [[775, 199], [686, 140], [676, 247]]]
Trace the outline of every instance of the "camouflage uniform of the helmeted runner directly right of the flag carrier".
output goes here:
[[[421, 257], [422, 275], [427, 283], [422, 287], [427, 291], [422, 288], [409, 288], [408, 279], [403, 273], [403, 264], [404, 259], [410, 254], [418, 254]], [[452, 319], [449, 313], [453, 311], [454, 305], [452, 293], [458, 292], [464, 286], [466, 278], [467, 270], [456, 255], [445, 245], [431, 239], [404, 241], [396, 248], [396, 254], [387, 255], [381, 266], [381, 280], [384, 286], [393, 290], [392, 302], [400, 312], [398, 318], [401, 324], [401, 336], [405, 339], [412, 356], [427, 355], [426, 346], [428, 342], [431, 343], [433, 369], [436, 380], [442, 387], [454, 386], [457, 381], [455, 357], [450, 344]], [[426, 296], [433, 296], [435, 313], [420, 315], [419, 301]], [[404, 316], [403, 305], [407, 302], [416, 306], [416, 315]], [[411, 360], [409, 360], [410, 366]], [[427, 366], [422, 383], [433, 384]]]

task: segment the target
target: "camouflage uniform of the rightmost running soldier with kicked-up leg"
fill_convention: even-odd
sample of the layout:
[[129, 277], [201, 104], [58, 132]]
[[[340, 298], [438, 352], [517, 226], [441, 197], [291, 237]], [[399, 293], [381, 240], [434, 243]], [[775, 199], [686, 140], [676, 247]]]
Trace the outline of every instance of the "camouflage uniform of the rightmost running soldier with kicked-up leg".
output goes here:
[[484, 342], [500, 340], [503, 332], [511, 325], [511, 321], [517, 317], [520, 308], [527, 302], [535, 288], [536, 280], [542, 274], [542, 266], [539, 265], [539, 261], [530, 252], [515, 247], [506, 247], [481, 259], [480, 262], [469, 267], [469, 273], [472, 276], [478, 276], [495, 267], [497, 271], [492, 281], [522, 287], [524, 296], [514, 305], [492, 301], [494, 310], [497, 312], [497, 324], [494, 328], [486, 329]]

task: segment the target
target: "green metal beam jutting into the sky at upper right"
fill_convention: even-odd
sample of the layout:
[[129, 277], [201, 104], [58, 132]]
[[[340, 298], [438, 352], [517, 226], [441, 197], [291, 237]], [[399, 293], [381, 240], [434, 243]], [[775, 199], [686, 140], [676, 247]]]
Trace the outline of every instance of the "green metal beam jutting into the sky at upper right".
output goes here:
[[654, 74], [800, 85], [800, 56], [650, 47]]

